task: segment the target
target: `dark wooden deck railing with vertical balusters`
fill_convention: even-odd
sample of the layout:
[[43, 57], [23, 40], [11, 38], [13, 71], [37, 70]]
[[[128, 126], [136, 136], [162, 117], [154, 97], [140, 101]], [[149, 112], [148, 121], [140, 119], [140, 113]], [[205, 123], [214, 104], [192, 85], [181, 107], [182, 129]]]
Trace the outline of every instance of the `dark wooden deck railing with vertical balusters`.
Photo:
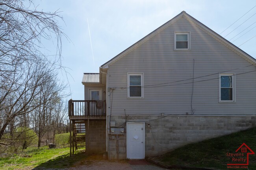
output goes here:
[[105, 116], [106, 101], [69, 100], [69, 116]]

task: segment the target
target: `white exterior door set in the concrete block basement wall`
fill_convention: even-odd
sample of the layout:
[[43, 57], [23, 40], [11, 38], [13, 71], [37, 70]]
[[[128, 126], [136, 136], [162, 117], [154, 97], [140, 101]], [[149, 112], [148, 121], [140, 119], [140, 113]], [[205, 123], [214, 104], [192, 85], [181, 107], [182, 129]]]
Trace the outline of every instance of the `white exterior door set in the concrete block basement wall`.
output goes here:
[[127, 158], [145, 158], [145, 123], [127, 122]]

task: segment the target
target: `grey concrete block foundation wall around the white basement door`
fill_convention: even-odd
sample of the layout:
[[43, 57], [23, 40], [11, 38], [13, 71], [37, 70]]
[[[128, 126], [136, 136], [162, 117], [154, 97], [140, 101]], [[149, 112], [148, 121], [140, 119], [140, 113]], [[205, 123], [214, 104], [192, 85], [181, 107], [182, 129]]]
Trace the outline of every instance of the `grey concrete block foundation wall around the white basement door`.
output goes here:
[[[124, 127], [125, 133], [109, 134], [109, 159], [126, 159], [125, 120], [125, 116], [111, 116], [111, 121]], [[126, 121], [145, 122], [145, 157], [256, 126], [254, 116], [129, 116]]]

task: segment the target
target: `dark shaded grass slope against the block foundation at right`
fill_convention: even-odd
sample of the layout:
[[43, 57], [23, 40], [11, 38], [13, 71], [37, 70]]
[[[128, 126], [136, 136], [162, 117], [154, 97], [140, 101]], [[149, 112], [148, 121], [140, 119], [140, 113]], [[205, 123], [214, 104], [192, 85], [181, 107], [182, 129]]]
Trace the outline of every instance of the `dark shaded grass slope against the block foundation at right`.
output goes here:
[[[241, 144], [247, 144], [256, 153], [256, 127], [223, 137], [188, 144], [156, 157], [167, 165], [183, 165], [226, 170], [231, 163], [226, 153], [236, 153]], [[256, 170], [256, 155], [249, 155], [249, 169]], [[237, 169], [239, 170], [239, 169]]]

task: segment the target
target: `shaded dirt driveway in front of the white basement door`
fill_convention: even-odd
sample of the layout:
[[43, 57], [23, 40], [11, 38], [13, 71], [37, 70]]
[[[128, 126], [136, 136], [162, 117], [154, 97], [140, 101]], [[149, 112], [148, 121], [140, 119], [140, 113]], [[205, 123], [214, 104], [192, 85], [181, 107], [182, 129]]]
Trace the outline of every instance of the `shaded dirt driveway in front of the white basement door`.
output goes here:
[[[68, 159], [65, 160], [65, 158]], [[144, 159], [121, 161], [106, 160], [103, 159], [103, 155], [87, 155], [84, 152], [75, 154], [73, 157], [65, 158], [48, 161], [35, 168], [27, 167], [22, 170], [166, 170], [152, 163], [149, 163]], [[70, 160], [72, 164], [69, 165]], [[64, 166], [65, 168], [54, 168], [56, 167], [54, 165], [64, 165], [66, 163], [67, 166]]]

